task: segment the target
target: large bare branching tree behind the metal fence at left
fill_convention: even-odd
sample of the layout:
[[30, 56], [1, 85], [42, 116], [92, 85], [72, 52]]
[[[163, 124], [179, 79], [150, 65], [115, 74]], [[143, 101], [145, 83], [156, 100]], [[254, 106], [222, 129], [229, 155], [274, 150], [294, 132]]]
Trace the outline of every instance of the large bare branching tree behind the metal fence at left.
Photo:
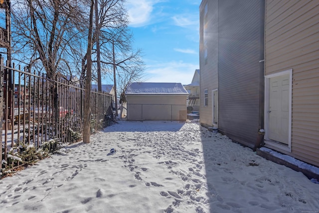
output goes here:
[[[83, 33], [76, 27], [85, 16], [85, 0], [16, 0], [12, 3], [12, 37], [15, 56], [43, 66], [48, 79], [57, 72], [71, 73], [73, 52]], [[17, 56], [18, 55], [18, 56]], [[58, 119], [57, 88], [51, 83], [54, 117]]]

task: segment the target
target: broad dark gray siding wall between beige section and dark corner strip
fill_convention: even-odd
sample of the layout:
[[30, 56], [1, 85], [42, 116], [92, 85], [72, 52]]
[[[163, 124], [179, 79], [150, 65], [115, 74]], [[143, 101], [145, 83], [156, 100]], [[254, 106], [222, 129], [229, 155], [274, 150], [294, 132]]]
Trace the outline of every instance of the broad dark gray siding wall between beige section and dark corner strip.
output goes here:
[[218, 129], [253, 147], [261, 123], [264, 0], [220, 0]]

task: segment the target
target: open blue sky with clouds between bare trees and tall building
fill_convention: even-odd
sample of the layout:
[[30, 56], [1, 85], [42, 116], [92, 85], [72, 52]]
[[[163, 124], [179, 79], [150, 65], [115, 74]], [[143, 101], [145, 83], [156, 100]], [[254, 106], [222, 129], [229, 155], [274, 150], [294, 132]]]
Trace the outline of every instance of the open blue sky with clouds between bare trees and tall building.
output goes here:
[[146, 82], [191, 83], [199, 69], [201, 0], [127, 0], [135, 48], [143, 50]]

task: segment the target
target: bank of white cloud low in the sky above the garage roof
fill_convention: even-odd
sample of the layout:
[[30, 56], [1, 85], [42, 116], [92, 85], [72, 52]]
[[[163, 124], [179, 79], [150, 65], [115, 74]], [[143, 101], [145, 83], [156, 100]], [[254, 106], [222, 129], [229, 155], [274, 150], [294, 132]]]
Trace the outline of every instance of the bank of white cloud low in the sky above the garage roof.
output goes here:
[[152, 64], [145, 70], [147, 82], [171, 82], [190, 84], [198, 64], [183, 61]]

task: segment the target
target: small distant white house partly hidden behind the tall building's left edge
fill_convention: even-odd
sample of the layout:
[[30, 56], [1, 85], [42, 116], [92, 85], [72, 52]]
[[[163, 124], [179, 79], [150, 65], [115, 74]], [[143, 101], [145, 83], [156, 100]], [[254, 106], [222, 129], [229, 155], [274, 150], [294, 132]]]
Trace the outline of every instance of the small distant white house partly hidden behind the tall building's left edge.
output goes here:
[[199, 69], [195, 70], [193, 79], [190, 84], [185, 85], [185, 89], [188, 92], [187, 106], [193, 107], [193, 110], [199, 110]]

